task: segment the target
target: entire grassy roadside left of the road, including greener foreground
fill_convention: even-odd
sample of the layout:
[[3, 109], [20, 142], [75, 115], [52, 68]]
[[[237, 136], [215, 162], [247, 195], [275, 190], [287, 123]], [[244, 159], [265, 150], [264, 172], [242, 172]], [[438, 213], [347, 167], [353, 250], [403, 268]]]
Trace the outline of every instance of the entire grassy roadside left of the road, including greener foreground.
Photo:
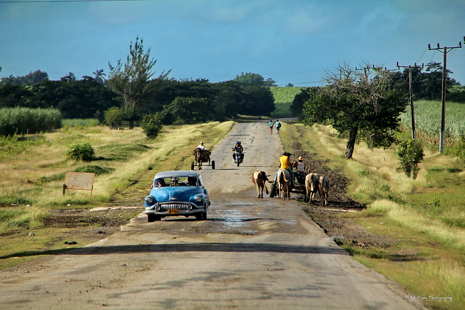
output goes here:
[[[154, 140], [146, 139], [140, 128], [66, 127], [57, 132], [29, 135], [3, 149], [0, 147], [0, 152], [6, 155], [0, 159], [0, 171], [5, 176], [0, 181], [0, 269], [93, 242], [80, 233], [99, 224], [83, 221], [77, 228], [51, 227], [44, 225], [43, 218], [50, 210], [85, 211], [112, 205], [109, 201], [141, 200], [157, 172], [189, 170], [192, 150], [199, 141], [205, 141], [206, 147], [212, 149], [233, 125], [233, 121], [228, 121], [165, 126]], [[66, 160], [64, 150], [76, 142], [91, 143], [97, 159], [90, 163]], [[15, 148], [21, 151], [11, 152]], [[63, 196], [64, 172], [83, 165], [99, 166], [106, 171], [96, 176], [92, 198], [88, 192], [71, 190]], [[33, 183], [36, 181], [39, 184]], [[134, 215], [131, 212], [134, 211], [120, 212], [123, 214], [116, 214], [115, 218], [127, 220]], [[63, 238], [73, 231], [73, 239], [69, 241], [77, 241], [78, 245], [63, 244], [66, 240]], [[33, 237], [28, 235], [30, 232]]]

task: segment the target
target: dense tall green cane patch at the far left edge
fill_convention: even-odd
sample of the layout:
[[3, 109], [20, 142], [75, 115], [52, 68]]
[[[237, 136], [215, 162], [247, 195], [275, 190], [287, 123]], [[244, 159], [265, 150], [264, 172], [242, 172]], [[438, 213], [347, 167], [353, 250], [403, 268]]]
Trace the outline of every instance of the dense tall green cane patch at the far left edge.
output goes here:
[[57, 109], [0, 109], [0, 135], [46, 132], [56, 128], [61, 128], [61, 113]]

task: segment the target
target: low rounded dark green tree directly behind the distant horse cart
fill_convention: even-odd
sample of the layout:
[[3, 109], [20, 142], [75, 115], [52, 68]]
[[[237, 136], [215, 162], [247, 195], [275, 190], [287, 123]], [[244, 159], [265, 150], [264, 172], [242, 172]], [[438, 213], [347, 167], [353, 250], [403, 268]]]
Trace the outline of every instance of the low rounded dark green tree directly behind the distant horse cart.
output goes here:
[[213, 102], [208, 98], [177, 97], [165, 106], [163, 114], [174, 125], [205, 123], [215, 119]]

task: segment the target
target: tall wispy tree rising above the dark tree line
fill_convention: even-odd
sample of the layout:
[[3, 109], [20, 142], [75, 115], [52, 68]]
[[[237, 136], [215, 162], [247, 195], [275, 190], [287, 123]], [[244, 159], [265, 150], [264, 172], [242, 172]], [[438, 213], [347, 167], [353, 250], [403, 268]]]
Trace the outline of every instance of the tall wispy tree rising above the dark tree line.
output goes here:
[[[122, 110], [129, 121], [129, 128], [134, 128], [134, 120], [140, 119], [140, 105], [153, 93], [153, 84], [157, 80], [152, 78], [152, 68], [157, 61], [150, 59], [150, 48], [144, 51], [143, 40], [136, 37], [136, 42], [131, 41], [126, 63], [121, 59], [116, 66], [110, 67], [108, 85], [121, 96]], [[169, 73], [169, 72], [168, 72]], [[166, 77], [168, 73], [162, 73], [160, 77]]]

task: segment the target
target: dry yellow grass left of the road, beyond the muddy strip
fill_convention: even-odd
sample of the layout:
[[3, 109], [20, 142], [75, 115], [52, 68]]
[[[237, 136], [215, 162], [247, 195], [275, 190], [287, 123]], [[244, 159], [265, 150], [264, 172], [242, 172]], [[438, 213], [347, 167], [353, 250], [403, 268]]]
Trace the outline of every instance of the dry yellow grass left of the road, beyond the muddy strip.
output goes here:
[[[15, 213], [13, 217], [7, 216], [8, 219], [0, 224], [2, 225], [0, 231], [6, 231], [8, 227], [11, 229], [28, 221], [39, 223], [41, 216], [50, 208], [63, 208], [66, 204], [72, 204], [74, 208], [85, 208], [87, 205], [105, 203], [116, 192], [125, 189], [135, 178], [139, 178], [147, 171], [153, 174], [158, 172], [157, 169], [163, 171], [187, 168], [189, 165], [184, 161], [190, 158], [192, 149], [200, 140], [205, 140], [207, 148], [211, 149], [230, 131], [233, 124], [233, 121], [228, 121], [165, 126], [157, 139], [153, 140], [147, 139], [140, 128], [110, 130], [104, 126], [89, 128], [81, 126], [42, 135], [29, 135], [23, 139], [39, 139], [41, 143], [35, 145], [24, 146], [27, 141], [13, 141], [17, 147], [24, 146], [24, 151], [9, 154], [0, 160], [0, 174], [3, 176], [0, 179], [0, 204], [17, 202], [23, 206], [14, 207], [15, 210], [13, 207], [12, 210], [10, 208], [1, 210], [11, 215], [11, 212], [19, 211], [19, 208], [27, 209], [24, 209], [25, 212]], [[96, 160], [90, 163], [66, 160], [67, 146], [81, 142], [89, 142], [96, 149]], [[105, 145], [112, 145], [113, 153], [106, 151]], [[122, 147], [119, 148], [119, 145]], [[149, 149], [141, 148], [139, 145], [146, 145]], [[135, 151], [129, 152], [128, 149]], [[33, 183], [41, 177], [73, 171], [78, 166], [88, 164], [110, 168], [111, 171], [95, 177], [92, 198], [89, 197], [89, 191], [68, 190], [63, 196], [63, 180], [60, 179], [43, 184]], [[34, 206], [25, 207], [24, 205], [28, 203]], [[29, 220], [25, 220], [24, 217], [28, 216]]]

